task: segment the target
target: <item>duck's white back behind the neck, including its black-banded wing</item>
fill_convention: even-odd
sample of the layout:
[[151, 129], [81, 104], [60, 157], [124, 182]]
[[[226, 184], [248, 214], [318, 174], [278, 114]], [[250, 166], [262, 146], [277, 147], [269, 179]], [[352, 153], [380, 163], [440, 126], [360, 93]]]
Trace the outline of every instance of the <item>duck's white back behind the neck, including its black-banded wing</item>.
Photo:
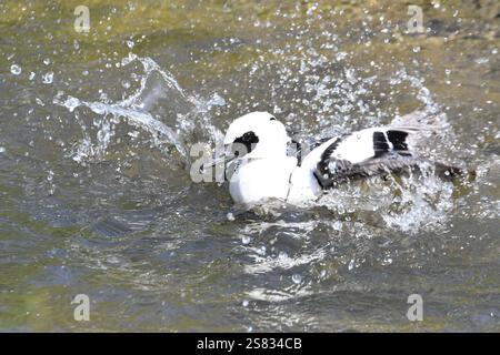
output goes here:
[[414, 164], [411, 128], [370, 128], [332, 138], [314, 148], [290, 180], [289, 202], [310, 200], [337, 183]]

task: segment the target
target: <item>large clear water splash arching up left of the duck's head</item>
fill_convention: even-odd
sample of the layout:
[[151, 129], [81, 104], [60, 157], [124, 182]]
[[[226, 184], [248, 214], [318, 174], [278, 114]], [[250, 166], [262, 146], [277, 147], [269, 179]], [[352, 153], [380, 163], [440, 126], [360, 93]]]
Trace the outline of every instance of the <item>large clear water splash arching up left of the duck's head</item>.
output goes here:
[[[134, 62], [140, 63], [143, 71], [139, 88], [121, 101], [110, 102], [104, 94], [101, 94], [101, 101], [86, 101], [71, 95], [64, 98], [62, 92], [53, 99], [54, 104], [67, 108], [70, 112], [74, 112], [78, 108], [87, 108], [101, 116], [97, 123], [94, 122], [99, 128], [94, 143], [80, 123], [83, 138], [69, 153], [74, 161], [84, 162], [92, 159], [99, 161], [110, 144], [114, 125], [122, 122], [122, 119], [129, 125], [148, 132], [154, 146], [163, 143], [173, 145], [186, 161], [189, 161], [188, 136], [192, 134], [197, 124], [203, 128], [206, 139], [221, 140], [222, 133], [212, 124], [210, 110], [212, 106], [224, 105], [223, 98], [216, 93], [204, 100], [187, 93], [171, 73], [162, 70], [148, 57], [140, 58], [130, 53], [120, 65], [123, 68]], [[177, 100], [188, 110], [186, 113], [173, 111], [170, 115], [161, 116], [161, 113], [166, 113], [162, 108], [158, 109], [159, 113], [153, 112], [161, 99]], [[74, 114], [78, 115], [77, 112]]]

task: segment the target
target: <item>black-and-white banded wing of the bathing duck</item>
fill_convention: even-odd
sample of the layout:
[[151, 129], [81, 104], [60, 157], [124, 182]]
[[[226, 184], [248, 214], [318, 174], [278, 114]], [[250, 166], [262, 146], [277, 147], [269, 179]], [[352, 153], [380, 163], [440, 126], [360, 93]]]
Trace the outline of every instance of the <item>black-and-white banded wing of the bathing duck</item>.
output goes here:
[[[331, 139], [311, 151], [309, 165], [322, 189], [358, 178], [416, 166], [409, 136], [417, 128], [373, 128]], [[307, 156], [306, 159], [308, 159]], [[304, 160], [306, 163], [306, 160]]]

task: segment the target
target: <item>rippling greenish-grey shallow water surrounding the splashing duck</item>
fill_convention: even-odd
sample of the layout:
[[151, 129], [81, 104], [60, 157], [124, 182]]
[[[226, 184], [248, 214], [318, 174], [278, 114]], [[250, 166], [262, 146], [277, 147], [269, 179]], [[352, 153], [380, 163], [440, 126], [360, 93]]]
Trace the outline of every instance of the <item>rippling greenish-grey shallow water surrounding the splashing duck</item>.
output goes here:
[[[0, 2], [1, 331], [500, 331], [494, 1], [414, 1], [421, 34], [391, 1], [87, 2], [89, 33], [80, 1]], [[243, 212], [190, 179], [252, 110], [307, 139], [417, 109], [476, 180]]]

